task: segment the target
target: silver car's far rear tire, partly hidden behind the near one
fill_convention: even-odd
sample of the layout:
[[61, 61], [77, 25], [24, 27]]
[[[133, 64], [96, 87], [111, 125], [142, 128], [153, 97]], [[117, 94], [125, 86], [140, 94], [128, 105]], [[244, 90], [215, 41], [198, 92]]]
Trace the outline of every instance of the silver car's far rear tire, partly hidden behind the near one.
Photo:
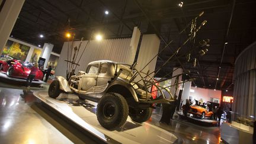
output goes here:
[[145, 108], [145, 109], [134, 109], [130, 108], [133, 113], [130, 113], [130, 118], [137, 122], [137, 123], [143, 123], [147, 121], [149, 118], [151, 118], [152, 115], [152, 108]]

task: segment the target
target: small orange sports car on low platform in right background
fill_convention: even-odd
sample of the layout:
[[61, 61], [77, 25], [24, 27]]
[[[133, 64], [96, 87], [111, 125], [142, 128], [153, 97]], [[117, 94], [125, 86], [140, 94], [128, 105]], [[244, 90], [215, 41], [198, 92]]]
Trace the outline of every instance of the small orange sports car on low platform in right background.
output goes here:
[[190, 110], [188, 110], [188, 113], [196, 114], [197, 116], [200, 116], [201, 119], [204, 119], [204, 117], [210, 117], [210, 119], [213, 119], [212, 111], [197, 105], [190, 105]]

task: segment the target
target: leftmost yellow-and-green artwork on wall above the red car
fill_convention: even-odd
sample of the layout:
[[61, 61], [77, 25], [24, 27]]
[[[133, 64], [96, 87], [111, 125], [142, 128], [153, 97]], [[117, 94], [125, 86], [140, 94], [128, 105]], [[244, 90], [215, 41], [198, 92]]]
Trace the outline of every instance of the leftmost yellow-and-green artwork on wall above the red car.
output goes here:
[[7, 44], [5, 44], [1, 57], [8, 55], [15, 59], [25, 61], [29, 50], [29, 46], [8, 40]]

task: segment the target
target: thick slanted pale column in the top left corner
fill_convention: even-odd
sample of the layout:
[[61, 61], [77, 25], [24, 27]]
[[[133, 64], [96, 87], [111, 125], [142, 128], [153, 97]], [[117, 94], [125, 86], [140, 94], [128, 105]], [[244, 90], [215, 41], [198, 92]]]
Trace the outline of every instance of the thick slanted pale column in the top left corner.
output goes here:
[[1, 1], [1, 3], [4, 2], [4, 6], [0, 11], [0, 54], [7, 43], [24, 1], [25, 0]]

